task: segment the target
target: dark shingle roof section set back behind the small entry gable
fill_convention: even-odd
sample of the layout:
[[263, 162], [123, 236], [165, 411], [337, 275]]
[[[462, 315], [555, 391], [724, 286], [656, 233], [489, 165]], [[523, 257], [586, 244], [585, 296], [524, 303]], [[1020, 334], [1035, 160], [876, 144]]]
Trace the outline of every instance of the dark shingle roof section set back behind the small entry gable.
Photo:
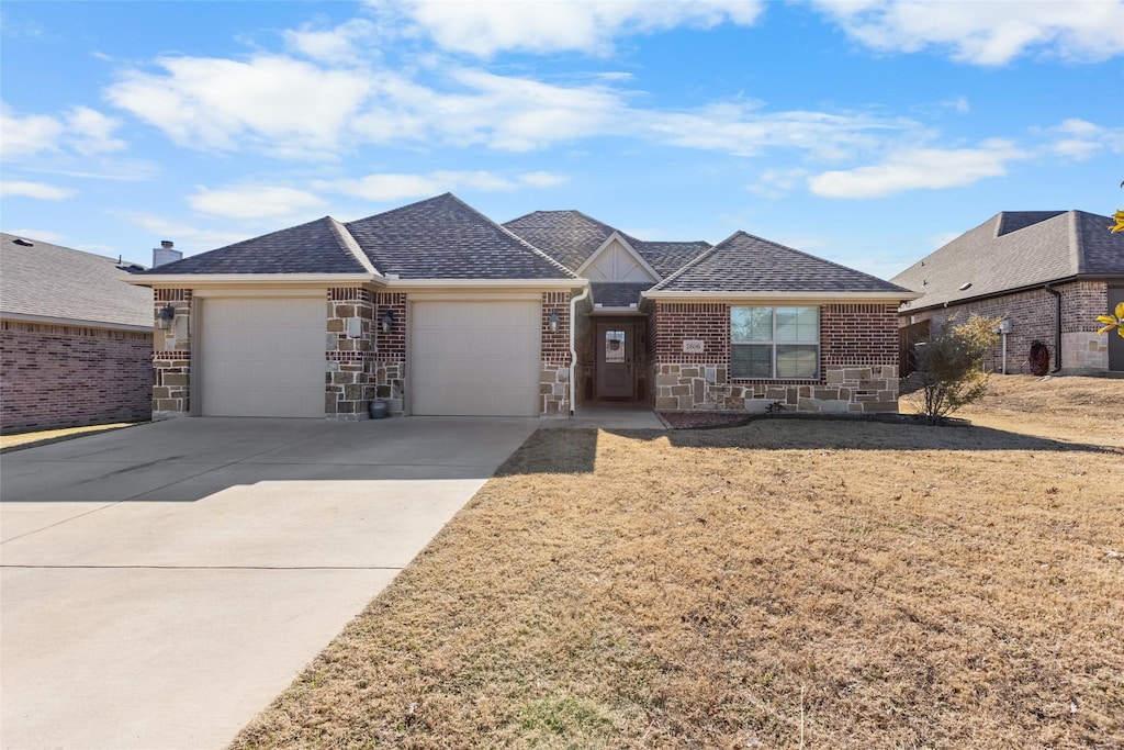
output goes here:
[[645, 242], [581, 211], [534, 211], [504, 224], [571, 271], [577, 271], [616, 232], [661, 277], [710, 249], [707, 242]]

